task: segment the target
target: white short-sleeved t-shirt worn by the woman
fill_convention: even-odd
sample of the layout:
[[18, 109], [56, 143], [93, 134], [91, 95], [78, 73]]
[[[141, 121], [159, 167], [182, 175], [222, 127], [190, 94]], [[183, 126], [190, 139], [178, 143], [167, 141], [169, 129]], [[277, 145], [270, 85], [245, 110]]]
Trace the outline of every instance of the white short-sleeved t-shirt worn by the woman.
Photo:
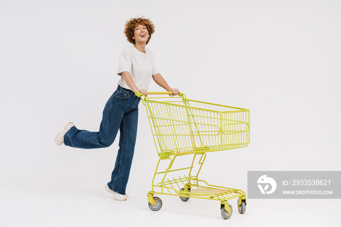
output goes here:
[[[122, 76], [122, 73], [127, 71], [138, 89], [147, 89], [151, 82], [152, 76], [159, 73], [155, 66], [154, 56], [152, 51], [145, 49], [146, 53], [142, 53], [134, 46], [127, 46], [121, 52], [118, 62], [117, 75]], [[119, 86], [129, 89], [123, 77], [117, 82]]]

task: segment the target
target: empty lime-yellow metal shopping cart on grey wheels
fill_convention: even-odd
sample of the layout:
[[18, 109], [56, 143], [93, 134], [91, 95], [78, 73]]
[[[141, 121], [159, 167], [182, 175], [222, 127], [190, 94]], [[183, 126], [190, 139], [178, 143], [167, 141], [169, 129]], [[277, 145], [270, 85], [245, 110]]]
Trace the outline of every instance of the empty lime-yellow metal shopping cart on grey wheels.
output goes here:
[[[171, 92], [149, 92], [149, 95], [172, 94]], [[220, 201], [221, 215], [228, 219], [232, 206], [228, 200], [238, 198], [238, 211], [245, 212], [246, 192], [208, 184], [198, 178], [206, 159], [206, 153], [246, 147], [250, 142], [249, 111], [179, 96], [149, 97], [136, 92], [146, 106], [159, 160], [152, 179], [152, 190], [148, 192], [149, 208], [159, 210], [160, 198], [154, 194], [179, 196], [184, 202], [189, 198]], [[174, 167], [175, 159], [191, 154], [191, 165]], [[162, 165], [166, 162], [165, 170]], [[173, 169], [172, 169], [173, 168]], [[170, 177], [185, 171], [183, 176]], [[156, 180], [159, 178], [159, 183]]]

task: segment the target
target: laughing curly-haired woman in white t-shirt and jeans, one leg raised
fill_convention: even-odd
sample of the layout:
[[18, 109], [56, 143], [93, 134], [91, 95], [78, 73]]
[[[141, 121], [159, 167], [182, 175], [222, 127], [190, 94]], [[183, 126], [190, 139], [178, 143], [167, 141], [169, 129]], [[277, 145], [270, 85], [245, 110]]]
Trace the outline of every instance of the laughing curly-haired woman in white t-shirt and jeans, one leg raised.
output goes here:
[[147, 96], [153, 78], [160, 87], [173, 92], [173, 95], [179, 93], [178, 89], [170, 88], [158, 72], [152, 52], [146, 49], [154, 33], [152, 21], [143, 17], [127, 20], [124, 33], [133, 46], [125, 47], [121, 52], [117, 72], [121, 78], [117, 90], [105, 105], [99, 132], [78, 130], [70, 122], [55, 139], [57, 145], [64, 143], [66, 146], [83, 149], [105, 148], [113, 144], [120, 130], [115, 167], [111, 181], [105, 186], [115, 200], [127, 200], [126, 186], [133, 161], [140, 101], [135, 91]]

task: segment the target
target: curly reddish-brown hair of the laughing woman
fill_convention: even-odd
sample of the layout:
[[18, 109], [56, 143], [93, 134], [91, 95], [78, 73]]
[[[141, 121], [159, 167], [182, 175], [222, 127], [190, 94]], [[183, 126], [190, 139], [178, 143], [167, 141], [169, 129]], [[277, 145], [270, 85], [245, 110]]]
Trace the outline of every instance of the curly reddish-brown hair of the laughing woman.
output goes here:
[[145, 19], [143, 17], [141, 18], [131, 18], [126, 21], [125, 28], [124, 28], [124, 34], [127, 37], [128, 42], [133, 43], [135, 45], [135, 39], [133, 39], [134, 36], [134, 29], [137, 25], [145, 25], [147, 27], [149, 38], [146, 42], [148, 44], [149, 40], [152, 38], [152, 34], [154, 33], [154, 24], [152, 20], [149, 18]]

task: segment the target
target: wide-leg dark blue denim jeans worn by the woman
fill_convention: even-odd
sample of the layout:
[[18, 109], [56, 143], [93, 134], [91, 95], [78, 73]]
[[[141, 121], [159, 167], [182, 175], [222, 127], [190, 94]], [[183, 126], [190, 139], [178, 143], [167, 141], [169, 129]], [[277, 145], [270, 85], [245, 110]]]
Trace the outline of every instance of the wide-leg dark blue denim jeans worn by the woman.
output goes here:
[[74, 126], [64, 136], [66, 146], [83, 149], [106, 148], [114, 143], [119, 129], [119, 150], [108, 186], [123, 195], [126, 194], [133, 162], [140, 100], [131, 90], [118, 86], [105, 104], [99, 132], [79, 130]]

